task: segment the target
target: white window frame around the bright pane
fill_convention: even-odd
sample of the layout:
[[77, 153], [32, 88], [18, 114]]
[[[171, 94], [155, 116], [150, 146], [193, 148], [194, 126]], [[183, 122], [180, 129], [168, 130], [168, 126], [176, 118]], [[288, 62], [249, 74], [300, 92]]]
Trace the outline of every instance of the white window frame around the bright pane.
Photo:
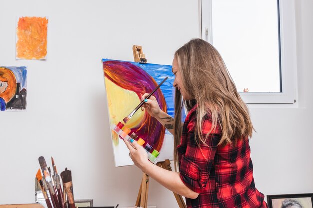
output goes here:
[[[279, 10], [278, 34], [280, 44], [281, 92], [239, 92], [247, 104], [272, 104], [296, 102], [297, 54], [295, 1], [277, 0]], [[201, 38], [213, 42], [212, 0], [199, 0]], [[278, 19], [277, 19], [278, 20]]]

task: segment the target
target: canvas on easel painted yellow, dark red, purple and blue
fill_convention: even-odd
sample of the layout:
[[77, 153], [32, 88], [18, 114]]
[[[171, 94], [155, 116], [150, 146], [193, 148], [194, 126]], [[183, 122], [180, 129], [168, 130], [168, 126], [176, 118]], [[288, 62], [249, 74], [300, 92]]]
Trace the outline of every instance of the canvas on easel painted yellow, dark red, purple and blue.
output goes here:
[[[172, 66], [109, 59], [102, 59], [102, 62], [110, 125], [122, 121], [140, 103], [141, 96], [152, 92], [165, 77], [168, 79], [153, 96], [163, 111], [174, 116]], [[172, 134], [145, 110], [139, 109], [125, 126], [160, 152], [159, 161], [173, 159]], [[111, 136], [115, 166], [133, 165], [124, 142], [114, 131]]]

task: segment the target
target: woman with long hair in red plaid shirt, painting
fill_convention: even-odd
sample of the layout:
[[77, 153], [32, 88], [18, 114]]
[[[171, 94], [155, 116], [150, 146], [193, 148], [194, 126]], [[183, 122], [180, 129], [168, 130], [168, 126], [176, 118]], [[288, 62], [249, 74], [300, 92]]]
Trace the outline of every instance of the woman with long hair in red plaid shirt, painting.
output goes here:
[[[266, 208], [254, 185], [248, 138], [253, 126], [228, 70], [209, 43], [193, 39], [174, 55], [175, 118], [161, 111], [147, 93], [145, 109], [173, 135], [179, 173], [147, 159], [136, 141], [125, 141], [130, 157], [144, 173], [186, 197], [188, 208]], [[188, 111], [181, 123], [183, 106]], [[168, 119], [171, 118], [171, 119]]]

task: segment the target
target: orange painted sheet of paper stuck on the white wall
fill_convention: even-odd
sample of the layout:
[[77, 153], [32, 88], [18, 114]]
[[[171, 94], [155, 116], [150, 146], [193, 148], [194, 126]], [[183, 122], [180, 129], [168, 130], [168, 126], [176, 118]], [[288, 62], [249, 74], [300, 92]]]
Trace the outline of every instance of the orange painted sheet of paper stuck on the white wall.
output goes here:
[[16, 58], [45, 59], [47, 54], [48, 19], [21, 17], [17, 23]]

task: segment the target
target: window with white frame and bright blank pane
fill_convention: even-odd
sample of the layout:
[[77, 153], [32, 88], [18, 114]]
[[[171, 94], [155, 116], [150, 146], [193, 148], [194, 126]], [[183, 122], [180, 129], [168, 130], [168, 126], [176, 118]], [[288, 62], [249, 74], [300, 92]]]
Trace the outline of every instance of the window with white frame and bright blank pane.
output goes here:
[[246, 103], [294, 103], [293, 0], [201, 0], [201, 20]]

